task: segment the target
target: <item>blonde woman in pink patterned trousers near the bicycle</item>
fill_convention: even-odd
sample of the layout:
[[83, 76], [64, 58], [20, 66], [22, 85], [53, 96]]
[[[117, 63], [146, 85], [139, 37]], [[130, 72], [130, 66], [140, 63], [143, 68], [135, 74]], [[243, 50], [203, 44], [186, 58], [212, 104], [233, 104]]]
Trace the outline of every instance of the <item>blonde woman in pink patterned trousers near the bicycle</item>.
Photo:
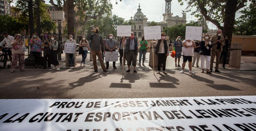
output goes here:
[[24, 71], [25, 68], [25, 59], [24, 59], [24, 42], [22, 41], [21, 34], [15, 34], [14, 39], [11, 41], [12, 44], [12, 66], [10, 72], [14, 72], [17, 67], [17, 62], [19, 60], [19, 69]]

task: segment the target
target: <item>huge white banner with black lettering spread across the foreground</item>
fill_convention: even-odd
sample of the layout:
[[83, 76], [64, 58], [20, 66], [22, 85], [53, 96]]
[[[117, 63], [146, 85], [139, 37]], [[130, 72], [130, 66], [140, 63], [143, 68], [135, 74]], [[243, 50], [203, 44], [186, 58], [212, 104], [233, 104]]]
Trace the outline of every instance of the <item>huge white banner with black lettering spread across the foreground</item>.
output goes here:
[[256, 96], [0, 99], [0, 131], [250, 131]]

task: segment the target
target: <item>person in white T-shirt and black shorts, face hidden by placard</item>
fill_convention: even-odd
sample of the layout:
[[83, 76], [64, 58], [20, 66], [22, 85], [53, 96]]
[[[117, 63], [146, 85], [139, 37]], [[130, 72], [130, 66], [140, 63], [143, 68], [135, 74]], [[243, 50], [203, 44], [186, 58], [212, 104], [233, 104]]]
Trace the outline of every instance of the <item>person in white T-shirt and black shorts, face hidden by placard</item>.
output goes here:
[[192, 56], [193, 56], [193, 47], [195, 47], [195, 42], [192, 40], [183, 40], [183, 63], [182, 63], [182, 70], [180, 73], [184, 73], [184, 68], [186, 66], [186, 62], [189, 60], [189, 73], [195, 74], [192, 71]]

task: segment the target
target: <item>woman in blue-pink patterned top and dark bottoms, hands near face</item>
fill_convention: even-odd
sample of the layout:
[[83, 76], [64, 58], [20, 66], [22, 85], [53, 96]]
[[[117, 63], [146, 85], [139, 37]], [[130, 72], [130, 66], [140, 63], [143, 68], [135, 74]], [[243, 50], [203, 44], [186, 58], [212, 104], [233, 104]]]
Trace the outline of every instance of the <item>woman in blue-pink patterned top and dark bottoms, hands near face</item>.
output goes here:
[[35, 57], [35, 67], [41, 67], [40, 54], [42, 53], [42, 40], [38, 37], [37, 33], [33, 33], [32, 36], [33, 37], [29, 41], [30, 45], [32, 46], [30, 51], [34, 54]]

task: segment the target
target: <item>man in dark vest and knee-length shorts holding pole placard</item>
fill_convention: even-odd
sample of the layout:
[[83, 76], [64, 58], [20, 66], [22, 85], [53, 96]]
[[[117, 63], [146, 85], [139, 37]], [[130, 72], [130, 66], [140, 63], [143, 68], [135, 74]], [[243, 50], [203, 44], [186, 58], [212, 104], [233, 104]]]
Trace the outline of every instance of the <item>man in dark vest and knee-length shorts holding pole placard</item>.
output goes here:
[[136, 71], [136, 60], [138, 55], [138, 40], [134, 38], [133, 32], [131, 32], [131, 37], [125, 40], [125, 52], [126, 52], [126, 60], [128, 70], [126, 72], [130, 72], [130, 66], [133, 66], [133, 72], [137, 73]]

